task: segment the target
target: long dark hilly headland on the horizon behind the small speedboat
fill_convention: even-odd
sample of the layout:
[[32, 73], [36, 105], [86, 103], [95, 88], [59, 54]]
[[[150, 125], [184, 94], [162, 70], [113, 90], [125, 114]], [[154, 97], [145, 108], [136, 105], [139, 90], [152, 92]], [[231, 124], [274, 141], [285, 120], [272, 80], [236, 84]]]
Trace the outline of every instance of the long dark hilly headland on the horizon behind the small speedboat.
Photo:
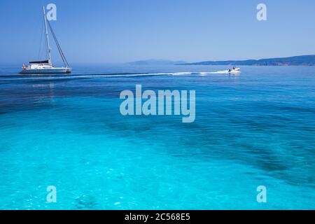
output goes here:
[[195, 63], [178, 63], [178, 65], [265, 65], [265, 66], [290, 66], [304, 65], [315, 66], [315, 55], [303, 55], [295, 57], [279, 57], [269, 59], [249, 59], [242, 61], [207, 61]]

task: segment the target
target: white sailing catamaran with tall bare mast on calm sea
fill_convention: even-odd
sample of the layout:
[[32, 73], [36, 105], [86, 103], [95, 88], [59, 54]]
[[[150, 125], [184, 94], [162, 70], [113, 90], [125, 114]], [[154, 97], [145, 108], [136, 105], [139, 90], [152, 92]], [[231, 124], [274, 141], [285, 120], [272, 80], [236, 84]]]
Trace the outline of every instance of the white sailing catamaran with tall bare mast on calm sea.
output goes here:
[[[47, 20], [47, 17], [45, 14], [45, 7], [43, 7], [43, 18], [45, 22], [45, 37], [46, 37], [46, 48], [47, 48], [48, 59], [44, 61], [29, 62], [29, 66], [25, 66], [25, 64], [23, 64], [22, 71], [20, 71], [20, 73], [71, 73], [71, 68], [69, 67], [68, 62], [66, 61], [66, 57], [64, 57], [64, 52], [62, 52], [62, 49], [60, 48], [60, 45], [57, 41], [55, 33], [52, 30], [52, 27], [50, 25], [50, 22]], [[48, 36], [48, 27], [57, 45], [62, 61], [64, 62], [63, 67], [55, 67], [52, 65], [51, 48], [50, 48], [49, 36]]]

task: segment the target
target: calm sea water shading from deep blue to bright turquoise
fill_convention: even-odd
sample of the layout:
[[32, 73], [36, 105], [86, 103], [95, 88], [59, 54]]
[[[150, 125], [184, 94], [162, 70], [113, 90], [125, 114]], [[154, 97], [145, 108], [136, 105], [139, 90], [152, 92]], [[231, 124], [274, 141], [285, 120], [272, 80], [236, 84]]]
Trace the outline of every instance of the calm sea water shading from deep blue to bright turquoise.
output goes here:
[[[315, 67], [224, 69], [0, 69], [0, 209], [315, 209]], [[195, 123], [121, 116], [136, 84], [195, 90]]]

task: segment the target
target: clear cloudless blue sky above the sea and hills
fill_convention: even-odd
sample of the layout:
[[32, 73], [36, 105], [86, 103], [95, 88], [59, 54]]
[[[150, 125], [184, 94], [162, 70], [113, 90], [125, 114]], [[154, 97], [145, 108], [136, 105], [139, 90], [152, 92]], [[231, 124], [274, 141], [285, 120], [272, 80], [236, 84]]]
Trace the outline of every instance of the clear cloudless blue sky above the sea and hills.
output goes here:
[[[38, 59], [48, 3], [57, 5], [52, 27], [72, 64], [315, 54], [313, 0], [1, 0], [1, 64]], [[258, 3], [267, 5], [265, 22], [256, 20]]]

